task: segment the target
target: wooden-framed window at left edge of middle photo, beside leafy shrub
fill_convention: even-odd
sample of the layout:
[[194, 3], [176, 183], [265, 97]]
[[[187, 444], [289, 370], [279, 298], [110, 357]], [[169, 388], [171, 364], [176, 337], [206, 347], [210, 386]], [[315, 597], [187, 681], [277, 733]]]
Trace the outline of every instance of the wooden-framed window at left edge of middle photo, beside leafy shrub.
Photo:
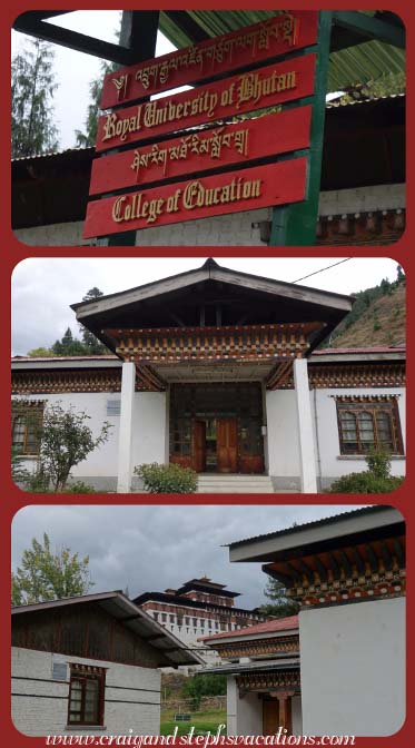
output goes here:
[[19, 454], [38, 455], [43, 402], [37, 400], [12, 401], [11, 443]]

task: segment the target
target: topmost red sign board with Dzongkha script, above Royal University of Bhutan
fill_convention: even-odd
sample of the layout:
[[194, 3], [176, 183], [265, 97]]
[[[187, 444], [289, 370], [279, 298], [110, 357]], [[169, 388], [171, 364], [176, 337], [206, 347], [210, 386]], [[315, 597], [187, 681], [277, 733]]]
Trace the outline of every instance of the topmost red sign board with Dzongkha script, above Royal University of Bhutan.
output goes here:
[[294, 10], [192, 47], [108, 73], [101, 109], [152, 94], [200, 82], [214, 76], [286, 55], [316, 43], [317, 11]]

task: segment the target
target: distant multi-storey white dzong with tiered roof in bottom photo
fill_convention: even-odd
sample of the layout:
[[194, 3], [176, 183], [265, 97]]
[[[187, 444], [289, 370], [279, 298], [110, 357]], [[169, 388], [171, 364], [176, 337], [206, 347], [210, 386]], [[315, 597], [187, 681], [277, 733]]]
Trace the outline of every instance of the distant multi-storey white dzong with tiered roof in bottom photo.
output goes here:
[[[204, 636], [238, 631], [266, 620], [267, 617], [258, 609], [236, 608], [235, 598], [239, 594], [228, 590], [225, 584], [201, 577], [190, 579], [177, 590], [144, 592], [134, 602], [188, 647], [200, 648], [198, 640]], [[206, 650], [201, 651], [200, 657], [211, 661], [215, 659], [213, 654]]]

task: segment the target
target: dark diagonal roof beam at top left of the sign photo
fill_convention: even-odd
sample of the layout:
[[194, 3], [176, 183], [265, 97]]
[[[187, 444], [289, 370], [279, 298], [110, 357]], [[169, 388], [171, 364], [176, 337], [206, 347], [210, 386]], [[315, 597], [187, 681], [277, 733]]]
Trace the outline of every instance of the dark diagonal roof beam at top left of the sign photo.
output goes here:
[[13, 23], [13, 29], [37, 39], [68, 47], [77, 52], [92, 55], [92, 57], [98, 57], [101, 60], [109, 60], [118, 65], [134, 63], [134, 50], [47, 23], [38, 18], [36, 11], [28, 11], [19, 16]]

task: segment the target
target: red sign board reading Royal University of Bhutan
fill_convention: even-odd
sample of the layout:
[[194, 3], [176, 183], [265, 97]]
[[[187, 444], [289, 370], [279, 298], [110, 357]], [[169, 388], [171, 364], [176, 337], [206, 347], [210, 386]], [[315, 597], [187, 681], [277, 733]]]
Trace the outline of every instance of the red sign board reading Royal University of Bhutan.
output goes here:
[[314, 92], [315, 55], [146, 101], [99, 118], [96, 150], [167, 135], [224, 117], [293, 101]]

